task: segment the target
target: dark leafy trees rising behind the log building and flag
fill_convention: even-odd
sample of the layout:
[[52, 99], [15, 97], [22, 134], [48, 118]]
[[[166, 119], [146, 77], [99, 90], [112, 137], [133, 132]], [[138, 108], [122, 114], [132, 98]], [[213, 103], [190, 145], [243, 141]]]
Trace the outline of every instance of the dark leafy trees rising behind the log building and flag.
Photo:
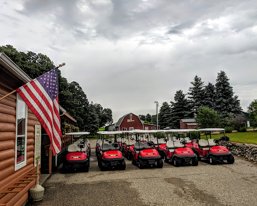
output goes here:
[[[12, 45], [0, 47], [0, 52], [4, 52], [13, 62], [15, 62], [32, 79], [46, 73], [55, 66], [53, 62], [44, 54], [36, 54], [32, 51], [20, 52]], [[58, 69], [59, 82], [59, 105], [71, 115], [77, 123], [75, 126], [80, 131], [96, 133], [100, 127], [112, 124], [112, 110], [103, 108], [100, 104], [89, 102], [79, 84], [75, 81], [69, 83], [61, 76]]]

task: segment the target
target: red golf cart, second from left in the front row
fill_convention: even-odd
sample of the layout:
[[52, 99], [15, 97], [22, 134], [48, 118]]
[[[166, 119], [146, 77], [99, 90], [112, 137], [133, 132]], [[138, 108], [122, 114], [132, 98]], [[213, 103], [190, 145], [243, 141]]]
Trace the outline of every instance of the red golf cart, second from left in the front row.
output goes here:
[[[113, 132], [98, 132], [101, 138], [98, 150], [98, 166], [101, 171], [105, 171], [107, 168], [120, 167], [120, 169], [126, 169], [126, 163], [121, 152], [121, 147], [117, 142], [117, 134], [122, 134], [121, 131]], [[106, 136], [106, 137], [105, 137]], [[112, 137], [114, 139], [112, 140]], [[106, 141], [108, 139], [108, 141]]]

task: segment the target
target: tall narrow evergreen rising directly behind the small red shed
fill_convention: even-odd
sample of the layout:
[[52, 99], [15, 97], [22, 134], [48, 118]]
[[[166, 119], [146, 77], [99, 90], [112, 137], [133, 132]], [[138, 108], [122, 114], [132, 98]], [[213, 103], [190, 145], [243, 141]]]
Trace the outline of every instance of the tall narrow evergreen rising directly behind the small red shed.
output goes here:
[[204, 106], [204, 82], [201, 77], [196, 75], [194, 81], [190, 83], [193, 86], [188, 89], [188, 98], [192, 105], [192, 110], [196, 113], [199, 107]]

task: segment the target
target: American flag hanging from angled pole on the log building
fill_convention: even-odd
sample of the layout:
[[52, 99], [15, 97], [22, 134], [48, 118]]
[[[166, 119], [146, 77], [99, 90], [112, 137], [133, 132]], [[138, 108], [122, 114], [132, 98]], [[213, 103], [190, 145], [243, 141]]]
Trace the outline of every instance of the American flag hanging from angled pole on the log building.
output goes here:
[[57, 68], [16, 89], [47, 132], [53, 154], [61, 150]]

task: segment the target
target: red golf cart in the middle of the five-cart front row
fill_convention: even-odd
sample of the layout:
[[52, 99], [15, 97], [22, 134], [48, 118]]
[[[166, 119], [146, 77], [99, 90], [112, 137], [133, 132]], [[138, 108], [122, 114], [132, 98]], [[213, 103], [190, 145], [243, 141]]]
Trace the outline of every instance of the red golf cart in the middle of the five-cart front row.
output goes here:
[[[153, 166], [156, 162], [157, 168], [162, 168], [162, 159], [158, 151], [153, 149], [153, 142], [150, 137], [150, 133], [156, 133], [156, 131], [136, 130], [133, 133], [136, 135], [136, 142], [133, 147], [132, 164], [138, 164], [139, 168], [143, 169], [145, 165]], [[141, 137], [141, 140], [139, 137]]]

